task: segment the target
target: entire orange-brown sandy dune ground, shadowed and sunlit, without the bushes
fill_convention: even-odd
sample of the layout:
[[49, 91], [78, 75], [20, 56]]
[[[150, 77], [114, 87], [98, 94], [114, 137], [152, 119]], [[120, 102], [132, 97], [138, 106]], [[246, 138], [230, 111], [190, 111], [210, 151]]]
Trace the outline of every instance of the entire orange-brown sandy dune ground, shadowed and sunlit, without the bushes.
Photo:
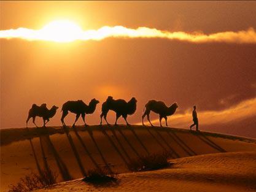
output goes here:
[[[128, 173], [131, 159], [162, 152], [171, 152], [173, 166]], [[117, 183], [93, 186], [80, 179], [97, 166], [120, 173]], [[256, 191], [256, 141], [143, 126], [1, 129], [1, 191], [45, 167], [62, 183], [41, 191]]]

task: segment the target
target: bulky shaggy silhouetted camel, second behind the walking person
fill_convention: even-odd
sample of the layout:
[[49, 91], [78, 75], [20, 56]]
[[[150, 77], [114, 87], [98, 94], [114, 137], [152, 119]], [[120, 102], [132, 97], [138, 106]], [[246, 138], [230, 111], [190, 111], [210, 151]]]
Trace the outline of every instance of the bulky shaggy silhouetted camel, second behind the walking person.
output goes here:
[[[107, 112], [109, 112], [109, 110], [113, 110], [116, 113], [115, 125], [117, 125], [117, 120], [121, 115], [125, 119], [126, 125], [130, 125], [126, 118], [128, 115], [133, 115], [133, 113], [136, 111], [136, 103], [137, 100], [135, 98], [131, 98], [130, 101], [126, 102], [123, 99], [115, 100], [112, 96], [109, 96], [107, 100], [102, 104], [100, 125], [102, 125], [103, 117], [107, 122]], [[110, 124], [107, 122], [107, 125]]]

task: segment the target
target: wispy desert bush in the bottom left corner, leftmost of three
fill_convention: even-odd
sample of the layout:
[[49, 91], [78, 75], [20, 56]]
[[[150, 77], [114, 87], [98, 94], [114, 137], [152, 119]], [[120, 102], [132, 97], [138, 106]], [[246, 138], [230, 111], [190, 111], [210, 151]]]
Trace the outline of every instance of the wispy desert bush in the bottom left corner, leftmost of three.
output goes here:
[[28, 192], [45, 188], [48, 185], [56, 183], [57, 177], [56, 172], [52, 172], [51, 170], [42, 171], [42, 174], [31, 172], [31, 174], [21, 178], [17, 184], [10, 185], [9, 192]]

